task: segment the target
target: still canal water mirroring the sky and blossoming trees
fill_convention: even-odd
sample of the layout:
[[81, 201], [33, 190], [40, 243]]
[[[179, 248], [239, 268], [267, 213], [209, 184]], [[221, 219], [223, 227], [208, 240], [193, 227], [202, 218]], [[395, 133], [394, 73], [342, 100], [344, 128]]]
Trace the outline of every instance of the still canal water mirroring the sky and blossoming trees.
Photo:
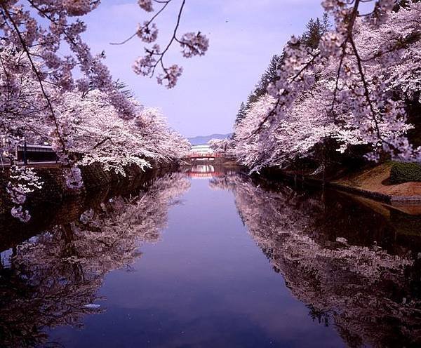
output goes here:
[[1, 347], [420, 347], [419, 206], [197, 167], [47, 215], [3, 223]]

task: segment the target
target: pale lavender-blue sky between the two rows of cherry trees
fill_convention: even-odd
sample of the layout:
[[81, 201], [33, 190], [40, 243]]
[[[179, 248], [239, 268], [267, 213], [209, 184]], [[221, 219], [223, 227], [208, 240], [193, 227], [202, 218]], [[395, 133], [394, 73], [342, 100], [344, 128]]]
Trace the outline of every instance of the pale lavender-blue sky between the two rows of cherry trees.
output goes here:
[[[182, 0], [173, 0], [156, 20], [157, 43], [165, 47], [173, 32]], [[177, 86], [168, 90], [156, 79], [138, 76], [133, 62], [144, 55], [145, 44], [131, 36], [148, 20], [136, 0], [103, 0], [83, 18], [84, 39], [93, 52], [105, 51], [114, 79], [128, 84], [143, 105], [159, 107], [168, 123], [186, 137], [230, 133], [236, 113], [272, 55], [281, 53], [291, 35], [300, 35], [310, 18], [321, 16], [321, 0], [187, 0], [179, 33], [200, 31], [209, 39], [202, 57], [183, 58], [174, 46], [164, 58], [167, 66], [184, 69]], [[156, 4], [155, 4], [156, 6]], [[158, 8], [158, 7], [156, 7]]]

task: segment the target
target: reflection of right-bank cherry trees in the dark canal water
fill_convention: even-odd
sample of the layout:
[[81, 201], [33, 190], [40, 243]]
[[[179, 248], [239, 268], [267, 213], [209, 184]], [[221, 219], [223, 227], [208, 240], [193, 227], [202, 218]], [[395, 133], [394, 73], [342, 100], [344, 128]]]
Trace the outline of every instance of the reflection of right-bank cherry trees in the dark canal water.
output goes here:
[[333, 324], [351, 347], [420, 343], [419, 244], [388, 239], [385, 217], [336, 196], [268, 191], [238, 175], [210, 185], [234, 192], [251, 236], [314, 320]]

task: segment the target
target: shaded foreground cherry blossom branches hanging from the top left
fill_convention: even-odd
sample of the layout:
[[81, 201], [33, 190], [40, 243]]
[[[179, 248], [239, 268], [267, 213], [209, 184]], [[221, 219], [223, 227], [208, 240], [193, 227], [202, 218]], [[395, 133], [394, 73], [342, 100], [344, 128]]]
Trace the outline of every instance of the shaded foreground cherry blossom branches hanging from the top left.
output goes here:
[[[131, 38], [139, 36], [146, 43], [155, 41], [157, 29], [154, 20], [172, 1], [138, 1], [140, 8], [147, 13], [154, 12], [154, 5], [161, 8], [150, 20], [139, 25]], [[109, 95], [111, 104], [123, 119], [133, 116], [131, 103], [118, 91], [112, 82], [109, 70], [102, 63], [105, 54], [93, 55], [89, 46], [81, 38], [81, 34], [87, 29], [81, 17], [94, 11], [98, 6], [100, 6], [100, 0], [25, 0], [20, 2], [8, 0], [1, 3], [2, 41], [4, 45], [13, 45], [26, 55], [29, 60], [27, 69], [32, 70], [36, 81], [41, 86], [41, 94], [44, 96], [51, 118], [55, 118], [55, 113], [50, 95], [44, 89], [44, 86], [48, 84], [57, 86], [60, 91], [72, 91], [78, 88], [83, 92], [88, 88], [88, 83], [93, 83], [95, 88]], [[146, 49], [149, 60], [155, 60], [156, 56], [158, 57], [156, 65], [142, 65], [155, 69], [159, 64], [163, 69], [163, 74], [159, 75], [158, 79], [161, 82], [168, 80], [168, 85], [170, 85], [168, 87], [175, 85], [181, 72], [181, 68], [176, 65], [168, 69], [163, 65], [163, 56], [174, 42], [180, 44], [182, 55], [186, 58], [203, 55], [208, 48], [208, 40], [200, 32], [196, 34], [189, 32], [178, 37], [178, 26], [184, 7], [185, 0], [180, 5], [173, 36], [166, 49], [160, 51], [156, 45], [152, 51]], [[63, 44], [69, 48], [70, 54], [60, 58], [60, 49]], [[138, 66], [136, 63], [135, 67]], [[83, 73], [82, 79], [74, 79], [76, 67]], [[8, 68], [13, 73], [13, 65]]]

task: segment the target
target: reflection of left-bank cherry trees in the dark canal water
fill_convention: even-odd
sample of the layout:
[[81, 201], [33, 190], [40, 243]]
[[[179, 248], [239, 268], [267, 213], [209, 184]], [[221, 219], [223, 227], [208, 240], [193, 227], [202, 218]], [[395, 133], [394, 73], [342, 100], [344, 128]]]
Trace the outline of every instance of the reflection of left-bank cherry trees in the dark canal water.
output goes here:
[[101, 312], [93, 303], [105, 274], [130, 268], [141, 243], [159, 240], [168, 206], [187, 189], [187, 178], [166, 175], [18, 246], [10, 267], [0, 267], [0, 346], [47, 344], [44, 328], [80, 326], [85, 314]]

